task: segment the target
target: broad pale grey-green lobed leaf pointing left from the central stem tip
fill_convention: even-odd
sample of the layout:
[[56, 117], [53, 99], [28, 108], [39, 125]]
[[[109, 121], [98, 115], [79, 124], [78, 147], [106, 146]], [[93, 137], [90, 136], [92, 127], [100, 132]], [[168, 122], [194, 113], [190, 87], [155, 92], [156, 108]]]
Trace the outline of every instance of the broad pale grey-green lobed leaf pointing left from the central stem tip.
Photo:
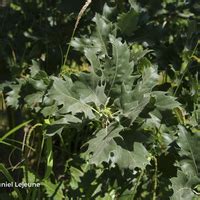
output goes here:
[[[75, 82], [72, 82], [69, 77], [65, 77], [64, 80], [52, 77], [53, 84], [45, 99], [55, 101], [53, 106], [59, 107], [56, 111], [59, 115], [72, 114], [74, 116], [83, 113], [85, 117], [93, 119], [95, 114], [100, 114], [94, 106], [98, 108], [100, 105], [104, 105], [107, 102], [107, 96], [104, 93], [105, 85], [98, 84], [98, 81], [94, 83], [90, 78], [93, 79], [92, 74], [91, 76], [81, 75], [81, 81]], [[50, 111], [49, 115], [56, 115], [55, 109], [51, 107], [45, 107], [44, 109], [47, 111], [43, 110], [42, 112], [48, 114]]]

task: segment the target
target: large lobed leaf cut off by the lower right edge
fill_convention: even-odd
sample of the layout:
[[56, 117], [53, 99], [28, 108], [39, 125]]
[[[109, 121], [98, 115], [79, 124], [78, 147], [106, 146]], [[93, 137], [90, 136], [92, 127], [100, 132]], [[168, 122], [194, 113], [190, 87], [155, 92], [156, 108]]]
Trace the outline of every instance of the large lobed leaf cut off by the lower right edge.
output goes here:
[[183, 126], [179, 125], [177, 144], [180, 147], [181, 159], [177, 177], [171, 179], [173, 195], [172, 200], [193, 199], [197, 197], [197, 185], [200, 184], [200, 132], [193, 135]]

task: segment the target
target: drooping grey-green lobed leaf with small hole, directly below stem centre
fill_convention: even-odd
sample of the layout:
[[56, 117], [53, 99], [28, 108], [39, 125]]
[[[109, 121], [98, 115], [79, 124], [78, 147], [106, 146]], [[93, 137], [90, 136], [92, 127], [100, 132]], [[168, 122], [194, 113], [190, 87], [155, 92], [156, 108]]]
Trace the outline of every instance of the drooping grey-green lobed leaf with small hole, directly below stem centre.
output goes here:
[[[133, 150], [127, 150], [119, 145], [115, 138], [122, 140], [124, 146], [127, 146], [126, 140], [120, 135], [123, 130], [121, 126], [109, 126], [97, 132], [96, 137], [91, 139], [88, 144], [88, 153], [93, 153], [90, 159], [91, 163], [100, 165], [102, 162], [111, 162], [114, 166], [117, 164], [121, 169], [134, 169], [139, 167], [144, 169], [149, 163], [148, 151], [138, 142], [134, 142]], [[129, 144], [130, 145], [130, 144]]]

